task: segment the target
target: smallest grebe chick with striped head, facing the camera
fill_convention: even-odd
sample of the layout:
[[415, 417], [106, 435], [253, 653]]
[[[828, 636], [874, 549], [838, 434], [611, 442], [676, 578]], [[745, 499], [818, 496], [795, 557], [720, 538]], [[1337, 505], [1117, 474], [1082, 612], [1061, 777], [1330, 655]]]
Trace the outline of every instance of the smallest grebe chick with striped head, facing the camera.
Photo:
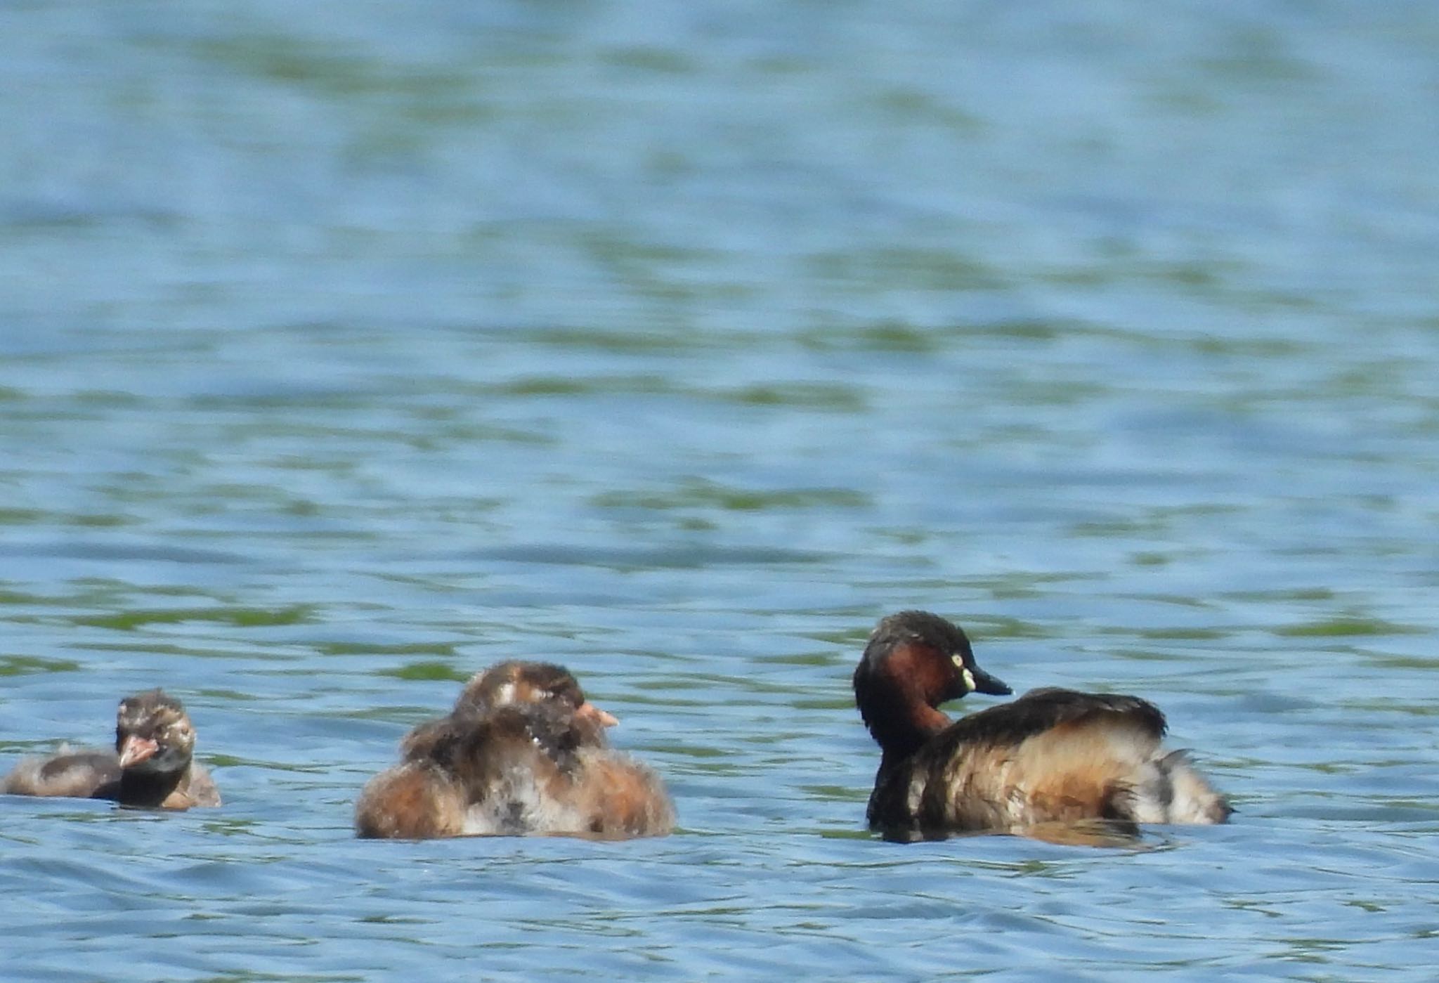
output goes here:
[[114, 751], [60, 751], [26, 758], [0, 782], [17, 796], [112, 799], [122, 806], [219, 806], [220, 793], [194, 760], [194, 725], [160, 689], [119, 701]]

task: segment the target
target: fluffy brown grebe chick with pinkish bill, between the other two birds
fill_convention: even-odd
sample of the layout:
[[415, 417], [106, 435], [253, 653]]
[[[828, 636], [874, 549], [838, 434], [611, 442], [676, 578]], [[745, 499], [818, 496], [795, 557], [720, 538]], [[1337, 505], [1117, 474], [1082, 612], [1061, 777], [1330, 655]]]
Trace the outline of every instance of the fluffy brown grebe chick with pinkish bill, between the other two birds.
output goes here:
[[400, 744], [403, 761], [366, 786], [355, 832], [656, 836], [673, 828], [659, 777], [609, 748], [614, 717], [566, 669], [502, 662], [475, 675], [455, 710]]

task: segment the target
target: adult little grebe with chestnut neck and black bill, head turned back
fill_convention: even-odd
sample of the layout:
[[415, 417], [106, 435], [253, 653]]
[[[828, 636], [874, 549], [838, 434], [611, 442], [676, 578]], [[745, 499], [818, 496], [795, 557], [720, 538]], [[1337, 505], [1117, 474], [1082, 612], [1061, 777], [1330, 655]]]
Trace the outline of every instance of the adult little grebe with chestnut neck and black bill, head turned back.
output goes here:
[[937, 707], [1010, 688], [974, 663], [955, 625], [928, 612], [879, 622], [855, 701], [882, 757], [871, 829], [899, 838], [1025, 832], [1042, 823], [1222, 823], [1230, 807], [1164, 753], [1164, 714], [1137, 697], [1033, 689], [951, 722]]

